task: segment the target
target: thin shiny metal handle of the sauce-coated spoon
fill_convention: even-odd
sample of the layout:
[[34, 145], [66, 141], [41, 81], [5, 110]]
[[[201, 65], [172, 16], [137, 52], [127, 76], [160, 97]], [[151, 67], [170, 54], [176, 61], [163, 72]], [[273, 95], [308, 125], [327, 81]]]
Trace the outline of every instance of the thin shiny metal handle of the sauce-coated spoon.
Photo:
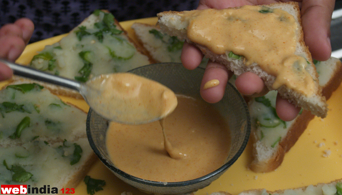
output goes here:
[[40, 80], [51, 84], [74, 89], [77, 91], [80, 91], [80, 87], [82, 85], [80, 82], [70, 80], [68, 78], [58, 77], [56, 75], [51, 75], [43, 71], [39, 71], [28, 66], [22, 66], [4, 59], [0, 59], [0, 62], [9, 66], [13, 70], [13, 74], [17, 76]]

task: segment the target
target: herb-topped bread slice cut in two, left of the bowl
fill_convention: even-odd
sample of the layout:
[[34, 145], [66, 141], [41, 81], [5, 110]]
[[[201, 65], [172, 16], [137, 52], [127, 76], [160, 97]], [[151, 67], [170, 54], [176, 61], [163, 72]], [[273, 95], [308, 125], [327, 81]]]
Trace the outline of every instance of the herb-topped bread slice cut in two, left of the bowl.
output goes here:
[[86, 136], [86, 113], [33, 80], [3, 87], [0, 112], [1, 185], [74, 188], [97, 159]]

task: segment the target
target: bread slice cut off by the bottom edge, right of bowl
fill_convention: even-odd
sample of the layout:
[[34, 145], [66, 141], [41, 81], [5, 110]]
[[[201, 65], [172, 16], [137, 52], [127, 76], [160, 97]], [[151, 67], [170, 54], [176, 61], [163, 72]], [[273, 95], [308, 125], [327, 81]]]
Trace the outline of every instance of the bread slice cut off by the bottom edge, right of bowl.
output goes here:
[[[239, 195], [341, 195], [342, 179], [329, 183], [319, 183], [295, 189], [283, 189], [267, 191], [266, 189], [255, 189], [241, 192]], [[227, 192], [215, 192], [211, 195], [231, 195]]]

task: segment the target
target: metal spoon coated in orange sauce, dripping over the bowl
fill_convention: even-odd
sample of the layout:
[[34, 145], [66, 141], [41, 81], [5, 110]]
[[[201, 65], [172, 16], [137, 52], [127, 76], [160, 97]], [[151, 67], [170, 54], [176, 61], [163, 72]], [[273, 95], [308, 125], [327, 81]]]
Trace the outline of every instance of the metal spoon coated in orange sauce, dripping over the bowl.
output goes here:
[[[85, 83], [81, 83], [76, 80], [51, 75], [4, 59], [0, 59], [0, 62], [8, 65], [15, 75], [48, 82], [78, 91], [96, 113], [108, 120], [123, 124], [144, 124], [162, 119], [169, 115], [177, 105], [177, 98], [169, 88], [147, 78], [143, 79], [150, 80], [151, 82], [158, 84], [158, 86], [153, 86], [151, 89], [144, 86], [144, 84], [134, 82], [134, 79], [131, 78], [125, 79], [124, 83], [119, 80], [120, 83], [117, 81], [117, 83], [111, 85], [101, 85], [108, 81], [107, 78], [121, 79], [119, 75], [124, 73], [100, 75]], [[140, 77], [133, 74], [130, 75], [133, 78]], [[161, 87], [159, 87], [159, 85]], [[108, 88], [108, 86], [110, 86], [110, 88]], [[158, 87], [160, 88], [160, 91], [155, 89]], [[128, 91], [128, 93], [124, 92], [125, 90]], [[106, 91], [107, 94], [104, 94], [104, 91]], [[131, 91], [134, 91], [134, 93], [132, 94]], [[147, 95], [147, 97], [150, 98], [148, 105], [146, 105], [146, 101], [142, 102], [142, 100], [140, 100], [141, 98], [135, 99], [136, 94], [143, 94], [146, 97], [146, 94], [152, 93], [151, 91], [153, 91], [154, 94]], [[156, 100], [156, 97], [159, 97], [159, 99]], [[144, 104], [145, 106], [140, 106]], [[132, 107], [132, 105], [138, 105], [138, 108]], [[150, 114], [151, 108], [159, 109], [157, 110], [158, 113]]]

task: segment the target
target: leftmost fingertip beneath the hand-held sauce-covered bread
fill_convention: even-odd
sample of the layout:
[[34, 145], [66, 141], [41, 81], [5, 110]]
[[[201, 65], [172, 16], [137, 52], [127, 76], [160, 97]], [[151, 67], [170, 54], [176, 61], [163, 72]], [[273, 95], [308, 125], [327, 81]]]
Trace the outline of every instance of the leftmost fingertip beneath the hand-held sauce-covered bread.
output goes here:
[[184, 42], [180, 59], [186, 69], [195, 69], [202, 61], [203, 54], [193, 44]]

